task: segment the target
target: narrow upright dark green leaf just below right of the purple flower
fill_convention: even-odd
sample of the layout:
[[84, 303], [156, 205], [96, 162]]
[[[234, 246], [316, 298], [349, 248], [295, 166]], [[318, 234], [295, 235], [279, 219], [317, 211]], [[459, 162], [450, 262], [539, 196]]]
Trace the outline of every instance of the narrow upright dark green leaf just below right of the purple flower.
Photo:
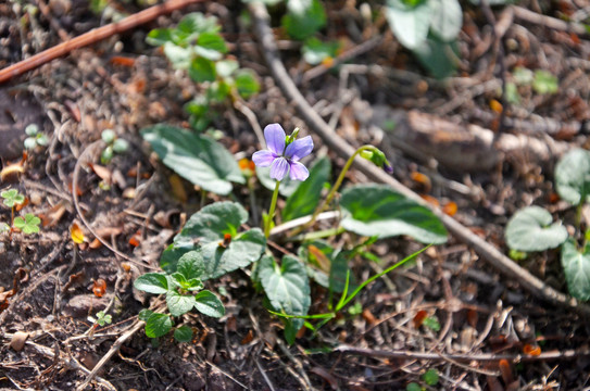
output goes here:
[[324, 184], [330, 177], [330, 160], [322, 157], [315, 161], [310, 168], [310, 177], [301, 182], [297, 190], [287, 199], [283, 210], [283, 220], [288, 222], [297, 217], [312, 214], [321, 200]]

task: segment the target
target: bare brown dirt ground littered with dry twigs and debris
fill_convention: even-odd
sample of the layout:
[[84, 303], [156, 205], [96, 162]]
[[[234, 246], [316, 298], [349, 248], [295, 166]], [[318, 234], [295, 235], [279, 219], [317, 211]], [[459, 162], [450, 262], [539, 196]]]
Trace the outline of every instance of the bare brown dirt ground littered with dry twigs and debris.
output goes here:
[[[35, 16], [25, 11], [26, 3], [0, 4], [0, 68], [110, 22], [83, 0], [32, 2], [40, 10]], [[111, 3], [124, 14], [142, 8]], [[278, 28], [275, 35], [300, 92], [339, 136], [355, 147], [379, 146], [396, 179], [430, 202], [438, 200], [473, 235], [507, 253], [504, 227], [519, 207], [540, 204], [560, 212], [566, 223], [574, 219], [575, 211], [555, 197], [553, 167], [560, 154], [588, 142], [590, 42], [587, 33], [549, 22], [589, 7], [583, 1], [525, 1], [494, 8], [490, 20], [479, 7], [465, 3], [459, 75], [444, 83], [425, 76], [384, 21], [363, 25], [354, 2], [326, 2], [329, 22], [323, 35], [340, 39], [347, 50], [380, 39], [340, 72], [314, 75], [298, 43]], [[138, 134], [161, 122], [187, 126], [183, 105], [198, 88], [145, 38], [151, 28], [170, 26], [190, 11], [217, 16], [230, 53], [258, 73], [261, 92], [248, 101], [258, 122], [299, 126], [314, 137], [316, 151], [326, 150], [277, 86], [252, 26], [240, 16], [248, 8], [239, 1], [189, 5], [1, 85], [2, 168], [20, 161], [26, 125], [37, 123], [50, 140], [29, 151], [21, 173], [0, 185], [1, 190], [18, 189], [28, 200], [23, 212], [42, 218], [37, 235], [0, 234], [1, 389], [74, 390], [122, 336], [128, 338], [100, 364], [88, 389], [399, 390], [412, 381], [424, 386], [420, 376], [428, 368], [438, 371], [440, 381], [427, 389], [589, 387], [589, 329], [581, 311], [539, 298], [518, 276], [501, 273], [453, 236], [412, 267], [372, 283], [359, 297], [360, 315], [344, 314], [315, 337], [302, 332], [291, 346], [242, 272], [208, 282], [214, 291], [224, 289], [227, 315], [221, 320], [185, 315], [196, 332], [191, 343], [147, 338], [136, 325], [150, 298], [134, 291], [133, 281], [159, 268], [160, 253], [180, 222], [199, 210], [201, 195], [183, 182], [187, 197], [180, 200], [170, 181], [173, 173]], [[516, 65], [556, 75], [558, 91], [523, 90], [520, 104], [501, 102], [500, 113], [491, 102], [512, 77], [506, 70]], [[348, 70], [346, 79], [341, 70]], [[405, 125], [384, 130], [384, 117]], [[249, 157], [259, 149], [249, 122], [234, 108], [227, 106], [214, 126], [237, 156]], [[106, 128], [131, 148], [116, 154], [106, 172], [91, 169]], [[486, 133], [498, 143], [486, 141]], [[344, 160], [327, 153], [338, 174]], [[105, 176], [108, 189], [99, 186]], [[353, 171], [347, 181], [368, 179]], [[255, 191], [258, 209], [267, 207], [268, 192], [258, 185]], [[248, 189], [235, 190], [244, 205], [247, 195]], [[210, 195], [206, 202], [215, 200]], [[10, 209], [0, 207], [0, 220], [10, 216]], [[72, 240], [74, 224], [87, 238], [81, 247]], [[97, 243], [96, 235], [111, 249]], [[337, 240], [351, 242], [347, 235]], [[352, 269], [367, 278], [419, 248], [406, 238], [381, 240], [373, 249], [381, 264], [357, 260]], [[518, 267], [567, 291], [557, 251], [532, 254]], [[105, 292], [100, 292], [101, 280]], [[11, 289], [13, 295], [2, 293]], [[313, 288], [311, 313], [322, 308], [325, 298], [324, 290]], [[89, 316], [104, 308], [113, 324], [95, 329]], [[440, 329], [420, 326], [424, 315], [436, 317]], [[26, 343], [15, 349], [23, 332]], [[344, 345], [352, 348], [337, 349]]]

